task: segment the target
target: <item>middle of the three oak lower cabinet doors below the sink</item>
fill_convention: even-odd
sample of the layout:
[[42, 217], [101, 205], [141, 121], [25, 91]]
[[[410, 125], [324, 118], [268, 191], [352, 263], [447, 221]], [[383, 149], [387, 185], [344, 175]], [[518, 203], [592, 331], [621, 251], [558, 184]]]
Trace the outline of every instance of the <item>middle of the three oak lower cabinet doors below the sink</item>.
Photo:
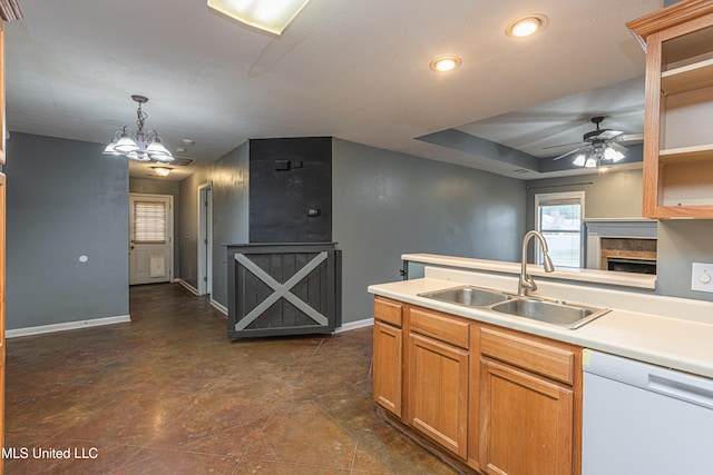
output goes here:
[[461, 458], [468, 455], [468, 352], [411, 334], [409, 424]]

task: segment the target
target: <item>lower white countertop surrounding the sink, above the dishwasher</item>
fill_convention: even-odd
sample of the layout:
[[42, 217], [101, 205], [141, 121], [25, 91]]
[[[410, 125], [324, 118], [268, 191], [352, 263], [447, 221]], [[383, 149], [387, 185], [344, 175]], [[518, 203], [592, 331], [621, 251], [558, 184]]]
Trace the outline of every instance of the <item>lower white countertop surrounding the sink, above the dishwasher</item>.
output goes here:
[[[575, 288], [566, 284], [545, 285], [538, 281], [541, 284], [543, 296], [557, 297], [566, 294], [566, 299], [604, 305], [612, 309], [594, 321], [570, 330], [488, 309], [418, 296], [465, 284], [514, 291], [516, 283], [512, 277], [427, 268], [424, 278], [372, 285], [369, 286], [369, 291], [478, 321], [713, 377], [713, 303], [583, 286]], [[607, 301], [612, 305], [606, 304]], [[646, 313], [639, 309], [645, 309]]]

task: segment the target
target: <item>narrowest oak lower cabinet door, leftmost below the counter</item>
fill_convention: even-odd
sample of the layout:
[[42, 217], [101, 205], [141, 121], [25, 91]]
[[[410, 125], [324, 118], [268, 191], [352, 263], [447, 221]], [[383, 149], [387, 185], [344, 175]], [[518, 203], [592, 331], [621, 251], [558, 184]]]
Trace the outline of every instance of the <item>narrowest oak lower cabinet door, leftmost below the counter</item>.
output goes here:
[[374, 321], [374, 403], [401, 417], [403, 333]]

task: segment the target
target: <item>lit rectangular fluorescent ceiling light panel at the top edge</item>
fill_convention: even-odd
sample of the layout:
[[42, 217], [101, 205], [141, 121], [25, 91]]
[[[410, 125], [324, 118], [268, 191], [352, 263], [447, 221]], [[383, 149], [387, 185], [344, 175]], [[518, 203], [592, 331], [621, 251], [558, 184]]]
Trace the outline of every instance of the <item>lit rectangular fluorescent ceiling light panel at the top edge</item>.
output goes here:
[[208, 9], [231, 21], [280, 37], [310, 0], [207, 0]]

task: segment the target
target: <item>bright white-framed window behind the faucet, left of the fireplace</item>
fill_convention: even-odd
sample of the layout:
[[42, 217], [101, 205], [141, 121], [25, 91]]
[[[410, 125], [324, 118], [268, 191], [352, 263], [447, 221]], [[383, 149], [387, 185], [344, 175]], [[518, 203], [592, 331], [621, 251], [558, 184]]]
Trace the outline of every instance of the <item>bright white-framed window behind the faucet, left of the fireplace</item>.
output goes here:
[[[535, 216], [555, 267], [582, 267], [584, 191], [535, 195]], [[537, 253], [538, 263], [540, 256]]]

